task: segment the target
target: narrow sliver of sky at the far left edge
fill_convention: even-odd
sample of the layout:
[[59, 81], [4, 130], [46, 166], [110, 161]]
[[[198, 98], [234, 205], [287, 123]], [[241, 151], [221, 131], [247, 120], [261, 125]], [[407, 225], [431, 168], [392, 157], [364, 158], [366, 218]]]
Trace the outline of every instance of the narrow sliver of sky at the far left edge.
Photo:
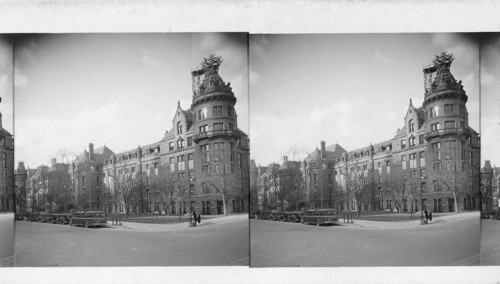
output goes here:
[[13, 64], [12, 41], [6, 35], [0, 35], [0, 113], [2, 126], [13, 134]]

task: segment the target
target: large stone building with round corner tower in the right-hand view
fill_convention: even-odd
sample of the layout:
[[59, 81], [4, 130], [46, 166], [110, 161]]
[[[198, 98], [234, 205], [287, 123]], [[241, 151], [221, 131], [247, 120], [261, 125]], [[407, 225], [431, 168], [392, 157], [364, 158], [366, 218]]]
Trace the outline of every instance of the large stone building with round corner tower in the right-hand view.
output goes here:
[[468, 97], [450, 72], [452, 61], [443, 53], [423, 70], [423, 105], [410, 99], [404, 125], [391, 139], [351, 151], [322, 141], [309, 153], [296, 207], [479, 209], [479, 135], [469, 127]]

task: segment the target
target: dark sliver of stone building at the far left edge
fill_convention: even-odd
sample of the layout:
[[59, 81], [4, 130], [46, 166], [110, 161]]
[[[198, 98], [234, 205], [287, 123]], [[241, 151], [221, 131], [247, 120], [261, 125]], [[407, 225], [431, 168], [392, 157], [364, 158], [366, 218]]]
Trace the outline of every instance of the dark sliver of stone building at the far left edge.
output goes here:
[[3, 128], [0, 113], [0, 212], [14, 210], [14, 138]]

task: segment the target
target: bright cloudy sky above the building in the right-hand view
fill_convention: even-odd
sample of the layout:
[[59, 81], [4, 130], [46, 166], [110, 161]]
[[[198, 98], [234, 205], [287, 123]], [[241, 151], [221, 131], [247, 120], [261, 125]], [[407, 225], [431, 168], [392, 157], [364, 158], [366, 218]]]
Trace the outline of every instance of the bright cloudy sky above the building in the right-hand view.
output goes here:
[[422, 69], [453, 53], [451, 72], [479, 132], [479, 45], [464, 34], [250, 35], [251, 158], [280, 162], [338, 143], [347, 151], [394, 137], [410, 99], [421, 106]]

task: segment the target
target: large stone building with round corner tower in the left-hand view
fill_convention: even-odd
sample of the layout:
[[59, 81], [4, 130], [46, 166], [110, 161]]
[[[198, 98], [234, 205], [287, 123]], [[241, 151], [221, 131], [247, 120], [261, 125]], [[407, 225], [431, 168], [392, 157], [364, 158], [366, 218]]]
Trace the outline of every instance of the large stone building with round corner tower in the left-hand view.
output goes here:
[[221, 63], [210, 56], [191, 72], [191, 107], [178, 103], [159, 141], [121, 153], [90, 143], [65, 164], [71, 203], [118, 213], [177, 214], [189, 204], [206, 215], [247, 210], [249, 139], [238, 128], [236, 97], [219, 76]]

